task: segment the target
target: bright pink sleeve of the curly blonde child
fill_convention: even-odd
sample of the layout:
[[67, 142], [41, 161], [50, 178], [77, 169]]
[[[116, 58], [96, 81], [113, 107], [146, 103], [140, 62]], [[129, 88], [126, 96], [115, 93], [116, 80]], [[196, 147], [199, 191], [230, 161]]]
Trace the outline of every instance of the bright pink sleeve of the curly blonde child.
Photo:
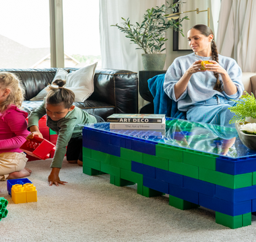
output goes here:
[[0, 140], [0, 149], [20, 148], [30, 133], [27, 130], [26, 116], [22, 112], [9, 112], [5, 115], [4, 122], [8, 124], [15, 136]]

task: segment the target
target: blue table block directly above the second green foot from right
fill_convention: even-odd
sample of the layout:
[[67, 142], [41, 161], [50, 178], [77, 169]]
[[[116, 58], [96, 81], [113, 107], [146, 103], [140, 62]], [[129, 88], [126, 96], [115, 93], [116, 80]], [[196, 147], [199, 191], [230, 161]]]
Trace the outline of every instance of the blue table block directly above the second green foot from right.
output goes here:
[[181, 187], [169, 184], [169, 194], [174, 197], [186, 200], [188, 202], [193, 202], [194, 204], [199, 204], [198, 192], [194, 192], [194, 191], [191, 191], [186, 188], [181, 188]]

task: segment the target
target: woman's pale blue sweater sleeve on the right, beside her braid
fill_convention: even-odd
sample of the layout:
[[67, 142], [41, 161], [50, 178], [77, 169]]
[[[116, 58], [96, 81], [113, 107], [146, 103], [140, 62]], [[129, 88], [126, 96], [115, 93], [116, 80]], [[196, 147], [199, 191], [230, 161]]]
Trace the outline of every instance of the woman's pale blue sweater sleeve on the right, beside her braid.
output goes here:
[[[234, 85], [236, 85], [237, 91], [233, 95], [228, 95], [225, 91], [222, 91], [226, 99], [238, 99], [243, 95], [243, 91], [245, 90], [245, 87], [242, 82], [242, 70], [238, 66], [235, 60], [232, 60], [230, 65], [227, 67], [226, 71], [228, 72], [228, 75]], [[222, 83], [222, 89], [224, 90], [224, 84]]]

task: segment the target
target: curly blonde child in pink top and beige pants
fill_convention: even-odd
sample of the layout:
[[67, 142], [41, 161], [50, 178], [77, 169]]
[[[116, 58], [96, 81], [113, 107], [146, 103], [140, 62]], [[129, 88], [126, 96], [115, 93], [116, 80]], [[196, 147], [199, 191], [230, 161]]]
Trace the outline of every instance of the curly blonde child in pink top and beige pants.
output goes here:
[[24, 90], [12, 73], [0, 72], [0, 181], [29, 176], [26, 158], [19, 147], [26, 141], [28, 114], [22, 106]]

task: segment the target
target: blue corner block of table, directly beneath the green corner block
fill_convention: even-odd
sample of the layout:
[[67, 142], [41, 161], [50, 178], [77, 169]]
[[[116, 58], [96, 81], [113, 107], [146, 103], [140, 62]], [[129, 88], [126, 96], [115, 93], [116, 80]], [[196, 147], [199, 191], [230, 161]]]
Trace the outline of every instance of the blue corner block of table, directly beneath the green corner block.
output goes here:
[[216, 185], [216, 198], [229, 202], [253, 200], [256, 199], [256, 185], [238, 189], [230, 189]]

